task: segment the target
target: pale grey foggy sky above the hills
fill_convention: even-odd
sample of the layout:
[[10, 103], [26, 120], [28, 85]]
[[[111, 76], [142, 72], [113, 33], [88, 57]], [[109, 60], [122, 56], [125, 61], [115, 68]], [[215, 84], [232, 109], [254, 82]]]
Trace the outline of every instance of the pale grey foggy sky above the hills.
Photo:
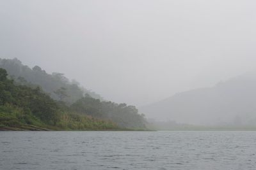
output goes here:
[[0, 0], [0, 57], [141, 106], [255, 70], [255, 5]]

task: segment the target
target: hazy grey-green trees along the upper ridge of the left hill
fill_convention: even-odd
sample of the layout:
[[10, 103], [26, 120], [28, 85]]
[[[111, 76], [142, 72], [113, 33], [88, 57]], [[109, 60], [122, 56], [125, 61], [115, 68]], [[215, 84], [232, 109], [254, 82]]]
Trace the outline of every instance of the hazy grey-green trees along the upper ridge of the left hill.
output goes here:
[[67, 97], [65, 97], [64, 101], [67, 104], [76, 102], [84, 94], [89, 94], [95, 99], [102, 99], [99, 94], [85, 89], [76, 80], [68, 80], [62, 73], [47, 74], [39, 66], [31, 69], [28, 66], [24, 66], [18, 59], [0, 59], [0, 67], [6, 69], [10, 78], [15, 82], [29, 87], [39, 85], [44, 92], [55, 100], [60, 100], [60, 98], [54, 92], [61, 87], [65, 88]]

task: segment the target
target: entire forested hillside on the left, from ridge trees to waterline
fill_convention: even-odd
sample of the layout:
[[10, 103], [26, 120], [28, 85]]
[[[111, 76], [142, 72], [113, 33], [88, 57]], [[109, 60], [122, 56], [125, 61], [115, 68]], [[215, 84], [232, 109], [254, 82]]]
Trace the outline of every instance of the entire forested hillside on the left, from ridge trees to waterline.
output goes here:
[[1, 130], [146, 130], [135, 106], [106, 101], [61, 73], [0, 60]]

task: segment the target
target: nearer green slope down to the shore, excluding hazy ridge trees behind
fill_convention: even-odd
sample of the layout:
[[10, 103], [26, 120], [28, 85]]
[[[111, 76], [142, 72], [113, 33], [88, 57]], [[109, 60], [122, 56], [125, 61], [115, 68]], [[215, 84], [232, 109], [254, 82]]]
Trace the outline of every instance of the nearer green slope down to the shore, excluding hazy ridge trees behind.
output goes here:
[[65, 99], [73, 94], [68, 93], [67, 86], [53, 93], [57, 98], [50, 97], [43, 88], [28, 83], [25, 78], [8, 76], [7, 71], [0, 68], [0, 130], [147, 129], [145, 118], [134, 106], [100, 101], [83, 92], [77, 101], [70, 103]]

